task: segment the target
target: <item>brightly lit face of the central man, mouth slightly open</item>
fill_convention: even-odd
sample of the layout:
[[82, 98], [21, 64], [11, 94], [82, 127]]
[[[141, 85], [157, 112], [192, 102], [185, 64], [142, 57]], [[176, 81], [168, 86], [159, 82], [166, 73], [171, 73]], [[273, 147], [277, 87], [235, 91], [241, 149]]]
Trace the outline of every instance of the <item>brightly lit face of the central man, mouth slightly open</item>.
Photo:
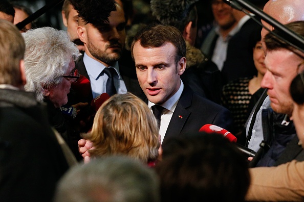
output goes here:
[[151, 103], [162, 104], [178, 91], [186, 58], [176, 63], [176, 47], [172, 43], [144, 48], [138, 41], [133, 55], [139, 85]]

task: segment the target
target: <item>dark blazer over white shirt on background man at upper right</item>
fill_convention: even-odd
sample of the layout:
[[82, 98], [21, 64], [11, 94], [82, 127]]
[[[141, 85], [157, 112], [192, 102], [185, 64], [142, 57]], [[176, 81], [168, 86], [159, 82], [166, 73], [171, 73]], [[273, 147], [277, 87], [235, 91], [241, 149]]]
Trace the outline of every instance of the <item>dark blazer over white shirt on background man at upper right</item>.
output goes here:
[[259, 26], [253, 19], [247, 20], [240, 31], [231, 37], [227, 47], [227, 57], [222, 69], [223, 85], [243, 77], [257, 74], [253, 63], [253, 47], [260, 40]]

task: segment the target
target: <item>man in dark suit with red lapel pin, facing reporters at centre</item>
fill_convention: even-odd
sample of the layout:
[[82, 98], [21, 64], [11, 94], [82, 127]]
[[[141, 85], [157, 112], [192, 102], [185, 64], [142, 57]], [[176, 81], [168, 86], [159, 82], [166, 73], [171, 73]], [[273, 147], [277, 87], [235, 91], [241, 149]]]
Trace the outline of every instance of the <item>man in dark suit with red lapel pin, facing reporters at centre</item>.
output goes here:
[[170, 136], [198, 132], [207, 123], [230, 130], [230, 112], [193, 93], [180, 79], [186, 67], [186, 46], [179, 30], [161, 24], [148, 26], [134, 37], [131, 51], [148, 106], [160, 121], [162, 142]]

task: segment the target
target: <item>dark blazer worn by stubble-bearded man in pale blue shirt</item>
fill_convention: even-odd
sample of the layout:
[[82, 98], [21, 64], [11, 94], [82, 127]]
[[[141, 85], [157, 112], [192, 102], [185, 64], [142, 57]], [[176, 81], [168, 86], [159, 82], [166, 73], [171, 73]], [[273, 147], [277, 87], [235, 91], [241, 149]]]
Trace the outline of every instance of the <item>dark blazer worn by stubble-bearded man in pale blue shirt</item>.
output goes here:
[[[88, 75], [88, 71], [86, 71], [86, 68], [85, 68], [84, 63], [83, 63], [83, 56], [81, 56], [76, 61], [75, 67], [79, 70], [81, 75], [83, 75], [85, 78], [90, 80], [90, 77]], [[119, 72], [120, 72], [120, 75], [121, 75], [121, 77], [122, 77], [122, 79], [125, 83], [127, 91], [135, 94], [136, 96], [138, 96], [142, 100], [146, 100], [146, 96], [145, 96], [144, 92], [141, 90], [141, 88], [139, 86], [137, 76], [136, 76], [135, 67], [126, 67], [126, 66], [119, 65]], [[75, 84], [72, 83], [72, 89], [73, 89], [73, 85], [75, 85]], [[91, 90], [91, 91], [90, 91], [90, 93], [88, 93], [89, 95], [84, 98], [84, 100], [80, 98], [81, 95], [78, 95], [77, 92], [74, 92], [76, 94], [75, 96], [78, 97], [79, 99], [75, 100], [73, 103], [75, 104], [75, 102], [79, 103], [79, 102], [84, 102], [84, 101], [90, 103], [91, 100], [93, 99], [93, 95], [92, 95], [92, 89], [88, 88], [88, 90]], [[74, 98], [72, 98], [72, 99], [74, 99]]]

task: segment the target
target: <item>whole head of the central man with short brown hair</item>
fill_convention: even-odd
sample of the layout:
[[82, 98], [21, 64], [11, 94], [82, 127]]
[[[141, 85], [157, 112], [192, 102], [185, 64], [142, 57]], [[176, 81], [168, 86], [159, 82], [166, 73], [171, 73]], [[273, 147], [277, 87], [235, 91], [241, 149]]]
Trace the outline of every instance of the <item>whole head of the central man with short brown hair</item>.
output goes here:
[[178, 91], [186, 68], [186, 44], [177, 28], [143, 28], [134, 37], [131, 53], [139, 85], [151, 103], [162, 104]]

